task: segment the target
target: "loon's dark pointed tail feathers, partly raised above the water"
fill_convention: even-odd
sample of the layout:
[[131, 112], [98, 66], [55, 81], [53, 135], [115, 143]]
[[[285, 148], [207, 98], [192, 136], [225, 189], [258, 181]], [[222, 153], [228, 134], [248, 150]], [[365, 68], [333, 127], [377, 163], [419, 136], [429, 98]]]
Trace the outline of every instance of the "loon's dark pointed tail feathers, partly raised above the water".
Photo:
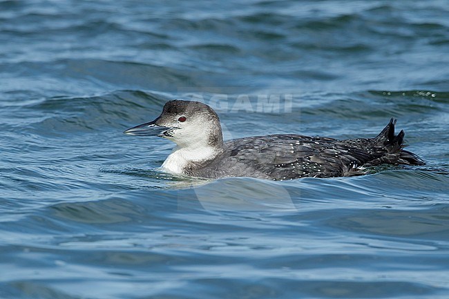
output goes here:
[[398, 163], [399, 164], [408, 164], [408, 165], [424, 165], [423, 160], [420, 157], [411, 153], [409, 151], [404, 151], [403, 148], [407, 146], [403, 144], [404, 139], [404, 131], [401, 130], [398, 135], [394, 135], [394, 125], [396, 124], [396, 119], [390, 119], [390, 123], [388, 123], [385, 128], [383, 128], [382, 132], [377, 135], [376, 142], [379, 145], [383, 145], [384, 148], [387, 149], [389, 154], [399, 153]]

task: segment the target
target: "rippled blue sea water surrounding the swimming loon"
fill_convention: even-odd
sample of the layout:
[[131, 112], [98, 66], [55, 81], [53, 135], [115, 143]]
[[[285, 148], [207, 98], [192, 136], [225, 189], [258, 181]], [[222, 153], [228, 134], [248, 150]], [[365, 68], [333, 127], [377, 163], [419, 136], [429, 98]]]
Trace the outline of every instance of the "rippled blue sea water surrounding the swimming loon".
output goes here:
[[[447, 1], [0, 1], [0, 298], [449, 298]], [[426, 166], [202, 180], [122, 134], [372, 137]]]

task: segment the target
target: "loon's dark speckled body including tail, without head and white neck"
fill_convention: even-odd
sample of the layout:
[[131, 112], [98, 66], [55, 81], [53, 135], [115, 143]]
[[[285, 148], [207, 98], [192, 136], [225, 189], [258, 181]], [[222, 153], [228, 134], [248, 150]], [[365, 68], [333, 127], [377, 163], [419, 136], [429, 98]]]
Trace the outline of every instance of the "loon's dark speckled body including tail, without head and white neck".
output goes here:
[[299, 177], [361, 175], [361, 166], [423, 164], [403, 151], [403, 131], [394, 135], [392, 119], [374, 138], [338, 140], [303, 135], [267, 135], [225, 142], [221, 155], [206, 164], [193, 165], [199, 177], [258, 177], [292, 180]]

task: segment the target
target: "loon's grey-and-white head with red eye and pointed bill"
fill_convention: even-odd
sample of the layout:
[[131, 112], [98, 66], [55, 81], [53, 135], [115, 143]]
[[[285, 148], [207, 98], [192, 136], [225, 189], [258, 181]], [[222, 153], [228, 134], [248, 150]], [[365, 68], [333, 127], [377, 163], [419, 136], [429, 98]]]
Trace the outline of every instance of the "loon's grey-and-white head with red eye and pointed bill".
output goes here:
[[166, 102], [161, 115], [153, 122], [128, 128], [126, 134], [158, 136], [184, 147], [223, 145], [222, 129], [217, 113], [206, 104], [175, 99]]

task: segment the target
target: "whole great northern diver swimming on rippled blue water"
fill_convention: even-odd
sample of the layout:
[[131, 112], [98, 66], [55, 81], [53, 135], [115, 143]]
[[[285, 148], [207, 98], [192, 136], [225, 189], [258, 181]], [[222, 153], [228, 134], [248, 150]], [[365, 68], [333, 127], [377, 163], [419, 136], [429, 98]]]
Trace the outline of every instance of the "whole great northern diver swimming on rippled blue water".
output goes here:
[[404, 132], [394, 135], [395, 119], [374, 138], [338, 140], [304, 135], [267, 135], [223, 142], [217, 113], [200, 102], [173, 100], [153, 122], [128, 128], [126, 134], [158, 136], [175, 142], [162, 170], [195, 177], [299, 177], [362, 175], [380, 164], [423, 165], [402, 148]]

